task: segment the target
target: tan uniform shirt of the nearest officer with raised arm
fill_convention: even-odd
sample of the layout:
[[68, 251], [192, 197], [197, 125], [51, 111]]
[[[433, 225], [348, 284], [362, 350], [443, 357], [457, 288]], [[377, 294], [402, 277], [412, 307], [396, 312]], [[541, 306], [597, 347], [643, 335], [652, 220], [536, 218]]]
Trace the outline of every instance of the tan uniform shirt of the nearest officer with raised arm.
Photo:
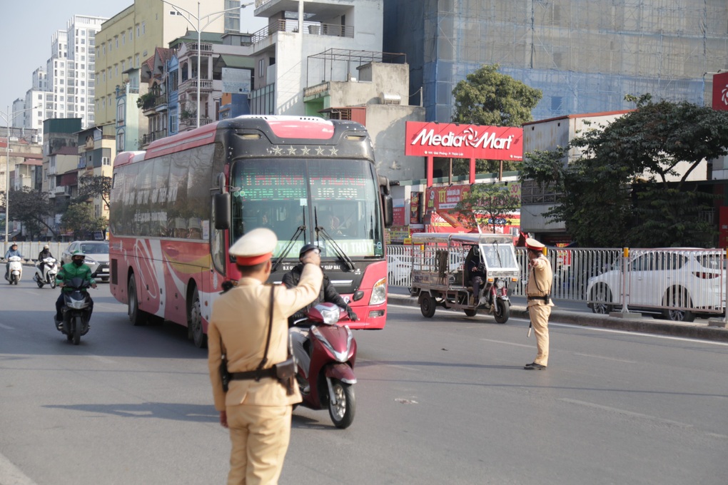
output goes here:
[[[298, 286], [291, 289], [275, 286], [273, 328], [265, 368], [288, 358], [288, 317], [318, 296], [322, 280], [321, 268], [307, 264]], [[264, 377], [258, 382], [233, 380], [228, 392], [223, 392], [220, 337], [227, 350], [229, 372], [257, 369], [266, 348], [270, 291], [269, 285], [261, 284], [255, 278], [241, 278], [238, 286], [222, 294], [213, 304], [207, 328], [207, 364], [218, 411], [237, 404], [285, 406], [301, 402], [297, 388], [293, 396], [288, 396], [280, 382], [272, 377]]]

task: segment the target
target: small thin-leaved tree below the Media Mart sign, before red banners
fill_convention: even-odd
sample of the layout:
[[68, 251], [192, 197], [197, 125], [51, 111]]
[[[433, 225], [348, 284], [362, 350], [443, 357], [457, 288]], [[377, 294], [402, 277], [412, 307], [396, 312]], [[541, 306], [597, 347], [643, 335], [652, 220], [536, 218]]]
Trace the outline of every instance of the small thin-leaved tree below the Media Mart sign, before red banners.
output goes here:
[[508, 215], [521, 207], [521, 199], [510, 193], [506, 185], [476, 183], [464, 193], [455, 207], [459, 222], [468, 229], [506, 225]]

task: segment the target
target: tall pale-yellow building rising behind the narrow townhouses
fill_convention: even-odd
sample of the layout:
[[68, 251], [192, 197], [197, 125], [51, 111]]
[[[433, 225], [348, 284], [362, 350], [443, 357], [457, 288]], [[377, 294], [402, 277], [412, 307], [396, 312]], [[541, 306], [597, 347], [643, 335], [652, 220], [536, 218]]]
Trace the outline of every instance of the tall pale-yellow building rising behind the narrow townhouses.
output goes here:
[[[133, 5], [103, 23], [95, 46], [94, 110], [98, 126], [116, 121], [116, 88], [127, 84], [124, 73], [140, 69], [154, 55], [154, 49], [167, 47], [188, 30], [195, 33], [198, 28], [220, 33], [240, 31], [238, 0], [208, 0], [203, 4], [197, 0], [175, 0], [173, 3], [177, 7], [161, 0], [135, 0]], [[224, 9], [232, 11], [220, 14]]]

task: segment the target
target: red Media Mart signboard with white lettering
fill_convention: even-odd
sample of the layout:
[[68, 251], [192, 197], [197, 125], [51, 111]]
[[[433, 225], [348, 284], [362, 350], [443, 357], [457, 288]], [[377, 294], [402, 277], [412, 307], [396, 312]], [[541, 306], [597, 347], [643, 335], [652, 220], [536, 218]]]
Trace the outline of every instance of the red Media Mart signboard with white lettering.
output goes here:
[[523, 128], [407, 121], [405, 155], [522, 160]]

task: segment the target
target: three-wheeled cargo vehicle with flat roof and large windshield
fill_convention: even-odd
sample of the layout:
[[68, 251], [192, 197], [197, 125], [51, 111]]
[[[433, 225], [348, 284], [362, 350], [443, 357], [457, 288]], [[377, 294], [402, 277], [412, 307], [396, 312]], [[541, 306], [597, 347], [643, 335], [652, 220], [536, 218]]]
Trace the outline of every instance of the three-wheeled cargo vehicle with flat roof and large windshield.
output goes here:
[[[432, 318], [438, 306], [464, 310], [467, 316], [483, 310], [505, 324], [510, 316], [508, 286], [521, 274], [511, 236], [414, 233], [412, 244], [410, 291], [418, 297], [423, 316]], [[479, 294], [473, 294], [473, 262], [486, 270]]]

